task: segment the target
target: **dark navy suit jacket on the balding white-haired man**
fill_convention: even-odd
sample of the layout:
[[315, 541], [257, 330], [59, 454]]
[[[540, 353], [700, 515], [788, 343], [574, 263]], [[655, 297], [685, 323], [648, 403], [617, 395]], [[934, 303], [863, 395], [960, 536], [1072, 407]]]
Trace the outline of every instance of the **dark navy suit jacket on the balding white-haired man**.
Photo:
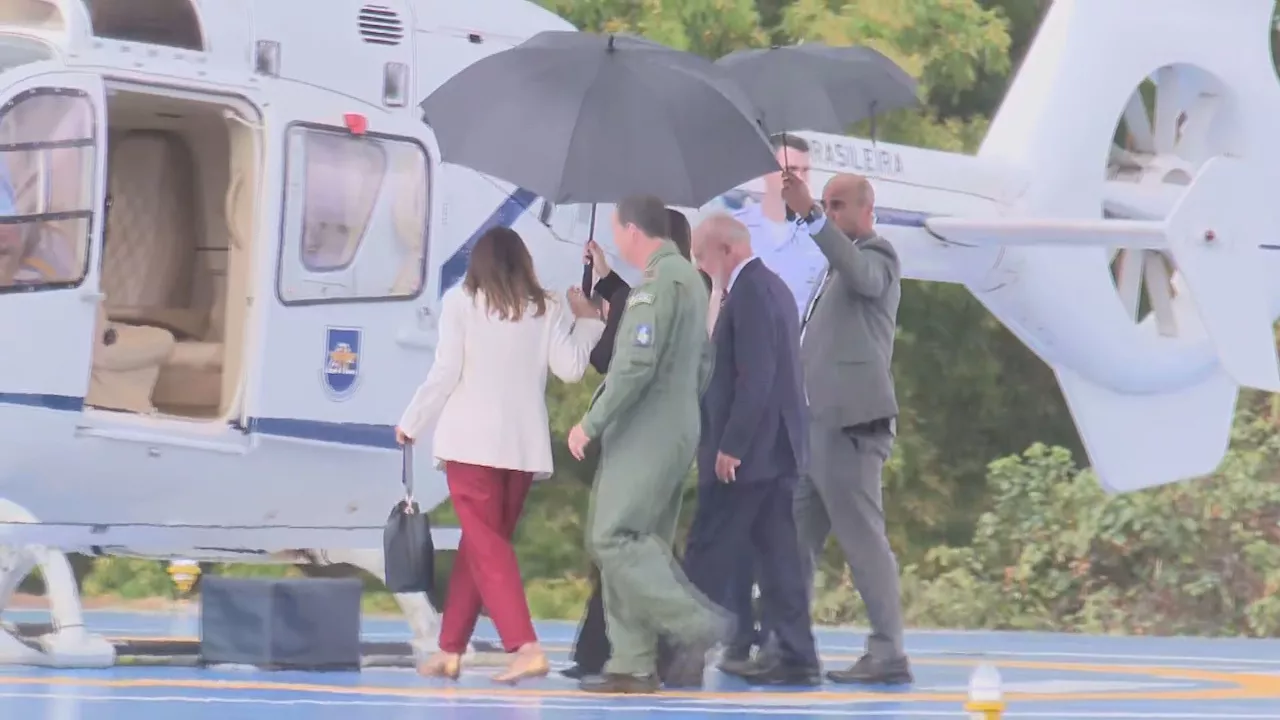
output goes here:
[[701, 401], [700, 482], [716, 454], [737, 457], [737, 482], [794, 479], [808, 460], [795, 297], [756, 258], [739, 273], [716, 320], [716, 364]]

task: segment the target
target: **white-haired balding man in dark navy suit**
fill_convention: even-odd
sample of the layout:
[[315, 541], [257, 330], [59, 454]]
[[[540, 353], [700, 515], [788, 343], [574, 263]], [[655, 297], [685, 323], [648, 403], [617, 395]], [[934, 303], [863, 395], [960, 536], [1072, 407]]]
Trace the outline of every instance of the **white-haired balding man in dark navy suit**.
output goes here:
[[713, 602], [735, 606], [728, 596], [740, 585], [741, 559], [754, 553], [778, 652], [742, 676], [754, 684], [817, 685], [822, 678], [792, 516], [808, 454], [795, 300], [753, 255], [746, 225], [728, 215], [699, 224], [695, 258], [724, 295], [701, 400], [698, 510], [685, 548], [686, 574]]

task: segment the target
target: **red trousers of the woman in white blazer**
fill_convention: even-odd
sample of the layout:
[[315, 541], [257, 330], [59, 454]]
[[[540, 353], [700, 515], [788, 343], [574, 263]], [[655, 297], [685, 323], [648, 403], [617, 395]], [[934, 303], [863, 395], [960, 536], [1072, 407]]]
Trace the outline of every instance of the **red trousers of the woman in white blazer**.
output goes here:
[[466, 652], [481, 605], [507, 652], [538, 642], [525, 583], [511, 538], [534, 483], [532, 473], [447, 462], [449, 498], [462, 525], [449, 596], [440, 623], [440, 650]]

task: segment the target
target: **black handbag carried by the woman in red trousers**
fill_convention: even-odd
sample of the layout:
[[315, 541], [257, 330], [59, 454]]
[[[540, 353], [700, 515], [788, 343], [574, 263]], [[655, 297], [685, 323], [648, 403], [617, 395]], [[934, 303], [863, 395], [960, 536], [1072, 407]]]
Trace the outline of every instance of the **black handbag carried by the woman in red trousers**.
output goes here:
[[393, 593], [431, 592], [435, 584], [435, 544], [431, 521], [413, 500], [413, 446], [406, 443], [401, 468], [404, 500], [392, 507], [383, 529], [387, 589]]

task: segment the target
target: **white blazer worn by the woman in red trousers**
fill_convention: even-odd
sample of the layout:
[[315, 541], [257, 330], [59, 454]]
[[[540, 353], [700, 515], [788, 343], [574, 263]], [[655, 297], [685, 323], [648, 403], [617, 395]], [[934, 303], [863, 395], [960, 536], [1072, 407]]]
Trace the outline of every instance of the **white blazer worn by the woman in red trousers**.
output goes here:
[[[431, 455], [445, 461], [552, 474], [547, 369], [564, 382], [582, 379], [604, 322], [577, 319], [550, 299], [540, 318], [499, 320], [483, 293], [462, 286], [440, 301], [435, 364], [401, 418], [415, 441], [435, 424]], [[531, 306], [530, 306], [531, 307]]]

